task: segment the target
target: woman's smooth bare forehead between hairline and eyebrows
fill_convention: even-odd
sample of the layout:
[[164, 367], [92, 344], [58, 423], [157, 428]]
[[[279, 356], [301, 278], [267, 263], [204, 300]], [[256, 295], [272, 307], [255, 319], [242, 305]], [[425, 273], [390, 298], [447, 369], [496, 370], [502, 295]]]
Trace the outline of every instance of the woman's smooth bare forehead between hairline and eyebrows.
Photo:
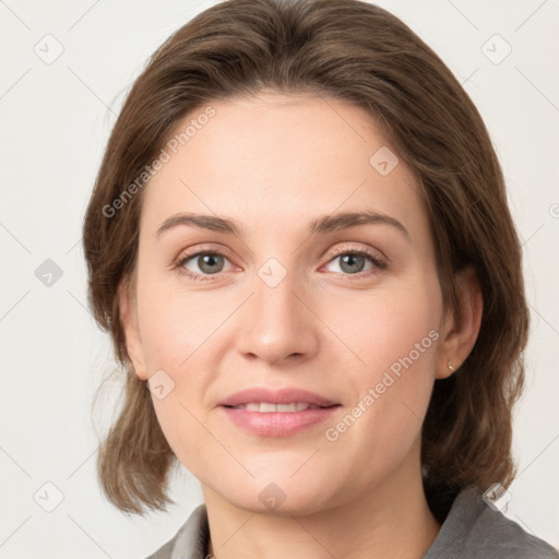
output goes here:
[[[197, 120], [207, 107], [212, 118]], [[189, 124], [188, 140], [177, 142]], [[144, 193], [142, 228], [150, 231], [187, 211], [269, 229], [362, 210], [391, 214], [412, 229], [426, 226], [412, 171], [373, 117], [348, 103], [277, 93], [228, 98], [192, 111], [173, 139], [169, 159]], [[379, 160], [389, 170], [397, 164], [379, 173]]]

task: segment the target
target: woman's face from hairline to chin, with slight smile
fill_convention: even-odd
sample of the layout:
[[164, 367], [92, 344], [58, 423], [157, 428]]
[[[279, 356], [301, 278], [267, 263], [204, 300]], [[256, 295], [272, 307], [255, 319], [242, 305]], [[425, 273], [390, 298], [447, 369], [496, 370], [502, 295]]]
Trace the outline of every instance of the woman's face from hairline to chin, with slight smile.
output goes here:
[[[124, 311], [173, 451], [207, 493], [280, 514], [419, 475], [448, 324], [409, 169], [368, 112], [335, 99], [269, 93], [212, 107], [145, 187], [136, 313]], [[358, 213], [373, 217], [342, 218]], [[336, 405], [221, 405], [252, 388]]]

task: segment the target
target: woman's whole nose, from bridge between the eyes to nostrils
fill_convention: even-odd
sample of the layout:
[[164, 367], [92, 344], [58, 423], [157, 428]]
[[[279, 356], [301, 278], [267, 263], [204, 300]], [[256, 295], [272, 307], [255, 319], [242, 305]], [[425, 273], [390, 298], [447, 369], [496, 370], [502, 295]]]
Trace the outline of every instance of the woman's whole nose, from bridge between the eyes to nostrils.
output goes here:
[[295, 271], [274, 258], [257, 270], [251, 285], [254, 294], [243, 312], [238, 336], [241, 353], [277, 362], [294, 354], [308, 356], [316, 350], [318, 333], [312, 313], [299, 300], [304, 284], [299, 280]]

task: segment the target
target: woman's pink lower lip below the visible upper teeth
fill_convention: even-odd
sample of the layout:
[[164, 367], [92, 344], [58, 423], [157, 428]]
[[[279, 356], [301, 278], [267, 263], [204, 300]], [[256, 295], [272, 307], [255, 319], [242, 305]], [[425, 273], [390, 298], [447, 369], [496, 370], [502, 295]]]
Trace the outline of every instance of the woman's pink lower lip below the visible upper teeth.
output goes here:
[[340, 406], [304, 412], [248, 412], [219, 406], [238, 427], [260, 437], [288, 437], [330, 418]]

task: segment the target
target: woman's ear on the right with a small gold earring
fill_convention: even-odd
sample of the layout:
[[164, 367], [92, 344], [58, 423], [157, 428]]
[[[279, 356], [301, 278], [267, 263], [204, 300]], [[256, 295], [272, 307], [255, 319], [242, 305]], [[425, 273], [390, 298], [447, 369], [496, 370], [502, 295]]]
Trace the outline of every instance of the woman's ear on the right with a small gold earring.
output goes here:
[[441, 329], [437, 379], [450, 377], [466, 360], [481, 325], [484, 298], [473, 266], [466, 266], [456, 274], [456, 287], [460, 305], [457, 309], [449, 309]]

